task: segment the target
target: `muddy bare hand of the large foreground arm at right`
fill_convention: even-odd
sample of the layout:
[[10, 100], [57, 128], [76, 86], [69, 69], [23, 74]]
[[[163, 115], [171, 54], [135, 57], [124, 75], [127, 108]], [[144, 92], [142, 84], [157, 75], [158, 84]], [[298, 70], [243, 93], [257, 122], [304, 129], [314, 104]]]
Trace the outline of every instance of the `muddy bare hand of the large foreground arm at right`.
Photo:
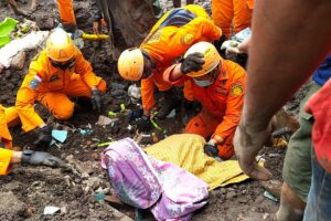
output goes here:
[[263, 130], [254, 131], [244, 125], [238, 125], [234, 136], [234, 148], [243, 171], [253, 179], [269, 180], [271, 172], [257, 165], [255, 157], [269, 139], [271, 125]]

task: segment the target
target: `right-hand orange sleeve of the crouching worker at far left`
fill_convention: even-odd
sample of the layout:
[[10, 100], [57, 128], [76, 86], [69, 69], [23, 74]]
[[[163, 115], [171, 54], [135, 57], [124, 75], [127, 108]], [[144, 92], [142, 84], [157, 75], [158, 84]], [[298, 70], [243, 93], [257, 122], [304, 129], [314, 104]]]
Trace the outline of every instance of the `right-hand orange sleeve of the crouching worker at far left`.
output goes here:
[[100, 77], [96, 76], [88, 61], [86, 61], [77, 49], [75, 73], [79, 74], [82, 80], [92, 88], [97, 86], [100, 82]]

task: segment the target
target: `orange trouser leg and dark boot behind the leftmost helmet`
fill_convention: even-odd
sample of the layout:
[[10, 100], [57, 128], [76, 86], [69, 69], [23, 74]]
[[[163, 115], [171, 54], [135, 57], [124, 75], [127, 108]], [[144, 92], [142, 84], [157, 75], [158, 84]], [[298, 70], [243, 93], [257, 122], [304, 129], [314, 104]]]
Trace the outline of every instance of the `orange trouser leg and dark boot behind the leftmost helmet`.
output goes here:
[[63, 29], [74, 33], [77, 29], [73, 0], [57, 0], [57, 8]]

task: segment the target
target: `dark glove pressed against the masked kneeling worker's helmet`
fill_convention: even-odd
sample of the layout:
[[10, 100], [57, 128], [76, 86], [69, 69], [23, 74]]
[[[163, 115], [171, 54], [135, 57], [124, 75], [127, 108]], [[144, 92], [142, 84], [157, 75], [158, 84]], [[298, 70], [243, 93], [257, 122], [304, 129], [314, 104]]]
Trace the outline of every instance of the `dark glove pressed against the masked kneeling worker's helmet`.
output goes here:
[[182, 61], [181, 73], [188, 74], [190, 72], [199, 72], [200, 70], [202, 70], [202, 66], [204, 64], [203, 57], [204, 55], [200, 52], [189, 54]]

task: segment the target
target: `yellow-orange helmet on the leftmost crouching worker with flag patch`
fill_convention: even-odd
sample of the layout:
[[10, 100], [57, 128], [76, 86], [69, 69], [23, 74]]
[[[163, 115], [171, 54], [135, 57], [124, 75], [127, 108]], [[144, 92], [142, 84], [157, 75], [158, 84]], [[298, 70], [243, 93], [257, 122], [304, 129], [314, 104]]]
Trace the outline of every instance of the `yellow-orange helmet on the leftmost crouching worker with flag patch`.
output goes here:
[[46, 54], [55, 62], [66, 62], [75, 55], [75, 45], [71, 36], [62, 29], [55, 29], [47, 39]]

